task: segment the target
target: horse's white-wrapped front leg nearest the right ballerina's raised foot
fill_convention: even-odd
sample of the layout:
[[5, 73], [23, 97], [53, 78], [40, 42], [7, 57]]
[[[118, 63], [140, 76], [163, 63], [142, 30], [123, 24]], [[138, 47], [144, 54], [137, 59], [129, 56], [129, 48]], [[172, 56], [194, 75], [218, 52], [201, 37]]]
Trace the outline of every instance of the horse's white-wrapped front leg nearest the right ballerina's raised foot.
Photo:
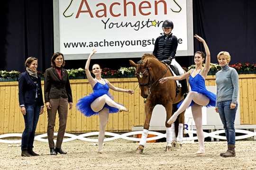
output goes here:
[[173, 103], [169, 102], [165, 105], [166, 110], [166, 147], [165, 151], [171, 151], [176, 146], [176, 136], [175, 136], [175, 127], [174, 123], [172, 125], [167, 124], [167, 121], [171, 118], [173, 112]]

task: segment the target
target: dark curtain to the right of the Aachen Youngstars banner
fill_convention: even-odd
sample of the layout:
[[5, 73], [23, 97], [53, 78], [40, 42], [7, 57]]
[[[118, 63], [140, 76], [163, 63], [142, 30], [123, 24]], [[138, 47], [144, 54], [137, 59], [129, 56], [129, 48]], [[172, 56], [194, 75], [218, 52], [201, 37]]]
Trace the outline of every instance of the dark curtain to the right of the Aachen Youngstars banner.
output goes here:
[[[256, 62], [256, 0], [193, 0], [194, 34], [205, 38], [211, 62], [229, 51], [230, 63]], [[194, 51], [203, 50], [194, 41]]]

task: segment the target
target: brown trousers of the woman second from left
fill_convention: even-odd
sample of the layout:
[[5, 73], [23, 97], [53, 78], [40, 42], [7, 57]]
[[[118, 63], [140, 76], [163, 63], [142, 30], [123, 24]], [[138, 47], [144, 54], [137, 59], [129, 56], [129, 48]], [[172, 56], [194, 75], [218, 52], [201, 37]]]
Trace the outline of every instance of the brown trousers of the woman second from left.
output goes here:
[[64, 138], [64, 133], [67, 124], [67, 114], [68, 114], [68, 99], [59, 98], [59, 99], [50, 99], [50, 104], [52, 108], [47, 109], [47, 117], [48, 117], [48, 126], [47, 126], [47, 136], [48, 143], [50, 148], [54, 148], [54, 127], [55, 127], [55, 119], [56, 113], [58, 111], [59, 115], [59, 130], [57, 135], [56, 147], [61, 148], [61, 144]]

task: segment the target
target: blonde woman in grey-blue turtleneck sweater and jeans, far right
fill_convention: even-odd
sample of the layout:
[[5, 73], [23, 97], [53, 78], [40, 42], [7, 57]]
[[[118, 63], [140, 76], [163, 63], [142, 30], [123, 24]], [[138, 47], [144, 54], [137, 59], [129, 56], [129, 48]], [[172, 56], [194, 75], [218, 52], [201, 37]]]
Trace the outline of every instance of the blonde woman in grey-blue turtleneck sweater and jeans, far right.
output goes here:
[[220, 153], [220, 156], [233, 157], [236, 156], [235, 118], [238, 108], [239, 77], [237, 71], [229, 67], [229, 52], [221, 51], [217, 58], [221, 70], [216, 73], [217, 100], [215, 110], [219, 112], [228, 141], [227, 152]]

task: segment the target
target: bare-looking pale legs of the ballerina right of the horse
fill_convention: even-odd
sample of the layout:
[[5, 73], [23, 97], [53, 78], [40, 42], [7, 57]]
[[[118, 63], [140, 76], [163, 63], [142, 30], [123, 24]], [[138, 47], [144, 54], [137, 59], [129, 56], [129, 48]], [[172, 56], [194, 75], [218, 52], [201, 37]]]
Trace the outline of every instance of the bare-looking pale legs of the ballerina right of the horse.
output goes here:
[[204, 135], [202, 130], [202, 106], [206, 106], [210, 100], [208, 97], [201, 93], [190, 91], [187, 97], [184, 99], [183, 103], [177, 111], [174, 112], [173, 116], [167, 121], [168, 124], [174, 123], [180, 113], [186, 110], [191, 102], [195, 102], [192, 105], [192, 115], [196, 125], [196, 133], [199, 143], [199, 151], [196, 154], [204, 153]]

